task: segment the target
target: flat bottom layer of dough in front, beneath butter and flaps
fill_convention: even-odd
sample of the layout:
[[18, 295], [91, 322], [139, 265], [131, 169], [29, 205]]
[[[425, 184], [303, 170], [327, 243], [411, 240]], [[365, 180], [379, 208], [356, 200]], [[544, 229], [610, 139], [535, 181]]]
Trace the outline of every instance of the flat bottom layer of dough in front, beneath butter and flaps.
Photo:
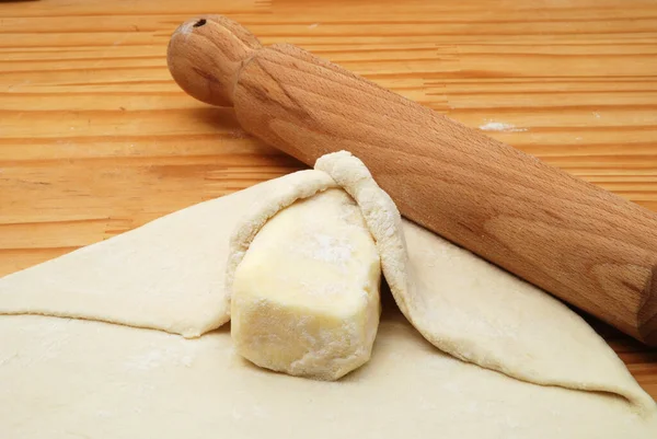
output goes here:
[[396, 310], [371, 360], [339, 381], [261, 369], [228, 327], [159, 331], [0, 319], [0, 435], [12, 439], [654, 439], [609, 394], [539, 386], [457, 360]]

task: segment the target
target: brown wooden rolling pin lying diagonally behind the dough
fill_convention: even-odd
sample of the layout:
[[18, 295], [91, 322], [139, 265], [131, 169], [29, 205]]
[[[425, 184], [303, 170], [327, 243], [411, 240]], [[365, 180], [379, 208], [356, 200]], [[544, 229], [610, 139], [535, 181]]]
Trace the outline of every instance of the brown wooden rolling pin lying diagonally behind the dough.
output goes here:
[[347, 150], [402, 215], [657, 345], [657, 215], [288, 44], [207, 15], [168, 63], [192, 96], [313, 165]]

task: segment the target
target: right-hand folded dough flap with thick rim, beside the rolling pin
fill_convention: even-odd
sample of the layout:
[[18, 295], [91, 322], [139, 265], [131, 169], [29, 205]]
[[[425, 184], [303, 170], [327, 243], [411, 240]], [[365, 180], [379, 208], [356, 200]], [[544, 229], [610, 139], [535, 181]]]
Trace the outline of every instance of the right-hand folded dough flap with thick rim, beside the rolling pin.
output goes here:
[[563, 303], [402, 220], [392, 199], [350, 153], [324, 155], [315, 169], [330, 174], [359, 205], [397, 305], [433, 345], [522, 381], [613, 393], [639, 412], [655, 412], [655, 402], [615, 353]]

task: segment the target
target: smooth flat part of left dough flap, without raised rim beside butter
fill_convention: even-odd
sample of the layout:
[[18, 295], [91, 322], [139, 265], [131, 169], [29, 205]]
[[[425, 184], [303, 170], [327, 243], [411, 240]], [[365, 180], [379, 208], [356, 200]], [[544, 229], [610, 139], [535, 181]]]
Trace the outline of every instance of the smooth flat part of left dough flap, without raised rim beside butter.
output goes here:
[[197, 337], [228, 322], [228, 241], [272, 182], [205, 201], [0, 279], [0, 314], [44, 314]]

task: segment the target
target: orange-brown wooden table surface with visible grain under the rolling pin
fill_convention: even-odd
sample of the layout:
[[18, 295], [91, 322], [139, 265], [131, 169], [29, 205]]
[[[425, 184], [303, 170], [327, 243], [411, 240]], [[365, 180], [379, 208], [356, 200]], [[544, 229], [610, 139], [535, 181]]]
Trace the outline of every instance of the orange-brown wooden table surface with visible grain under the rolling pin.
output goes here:
[[[0, 275], [301, 167], [172, 81], [201, 13], [657, 210], [653, 0], [2, 1]], [[657, 398], [657, 350], [593, 324]]]

